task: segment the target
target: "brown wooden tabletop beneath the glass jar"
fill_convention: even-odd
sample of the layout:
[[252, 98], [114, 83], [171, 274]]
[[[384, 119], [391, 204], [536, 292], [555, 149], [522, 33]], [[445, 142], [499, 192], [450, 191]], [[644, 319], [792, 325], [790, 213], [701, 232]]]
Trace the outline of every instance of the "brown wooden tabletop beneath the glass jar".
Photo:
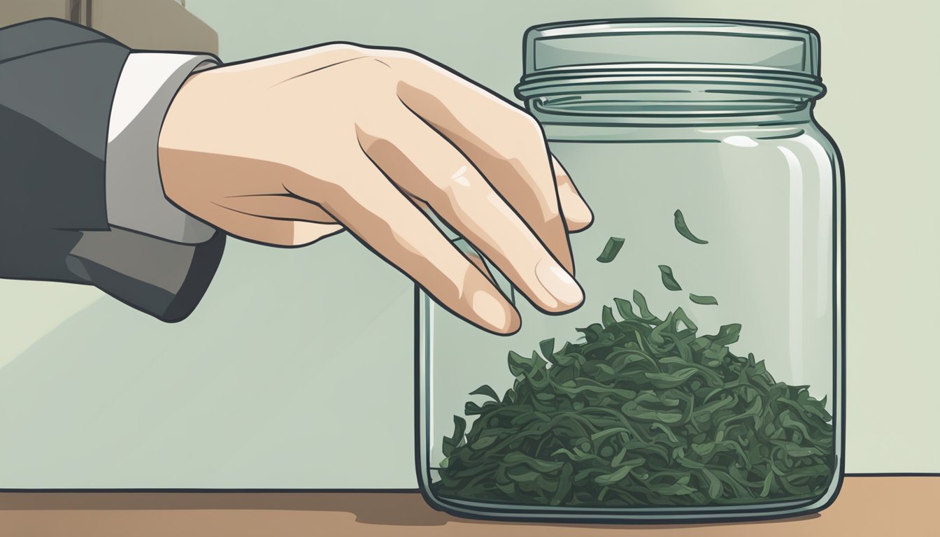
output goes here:
[[940, 477], [847, 477], [831, 507], [799, 518], [610, 526], [464, 520], [432, 510], [413, 492], [0, 493], [0, 536], [938, 537], [938, 501]]

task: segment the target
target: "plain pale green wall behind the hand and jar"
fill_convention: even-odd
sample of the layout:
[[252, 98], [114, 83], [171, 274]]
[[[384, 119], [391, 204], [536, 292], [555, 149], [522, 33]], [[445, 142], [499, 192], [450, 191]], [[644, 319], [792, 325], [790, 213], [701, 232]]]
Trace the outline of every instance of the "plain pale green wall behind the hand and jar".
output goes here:
[[[940, 9], [921, 1], [190, 0], [227, 61], [344, 39], [413, 48], [506, 94], [531, 24], [809, 24], [817, 117], [848, 177], [850, 472], [940, 472], [932, 166]], [[409, 282], [349, 237], [231, 241], [185, 323], [92, 289], [0, 280], [0, 487], [409, 487]], [[328, 314], [324, 314], [328, 312]]]

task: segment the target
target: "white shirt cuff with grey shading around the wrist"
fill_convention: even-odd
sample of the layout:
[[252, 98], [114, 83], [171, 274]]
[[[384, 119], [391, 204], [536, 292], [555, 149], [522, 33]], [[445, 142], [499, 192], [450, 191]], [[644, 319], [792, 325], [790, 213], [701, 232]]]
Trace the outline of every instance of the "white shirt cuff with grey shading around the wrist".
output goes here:
[[214, 228], [164, 196], [157, 148], [166, 111], [186, 78], [219, 63], [211, 55], [128, 56], [108, 120], [104, 163], [108, 224], [183, 244], [211, 239]]

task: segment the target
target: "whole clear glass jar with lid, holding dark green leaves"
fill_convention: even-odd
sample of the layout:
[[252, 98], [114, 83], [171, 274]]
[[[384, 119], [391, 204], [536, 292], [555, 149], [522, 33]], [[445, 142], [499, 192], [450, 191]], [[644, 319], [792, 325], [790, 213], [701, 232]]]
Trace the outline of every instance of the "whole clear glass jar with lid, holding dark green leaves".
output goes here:
[[[810, 28], [549, 24], [517, 95], [594, 213], [581, 308], [486, 333], [417, 290], [417, 470], [476, 517], [812, 513], [843, 454], [840, 158]], [[472, 252], [461, 240], [456, 243]], [[492, 266], [490, 267], [492, 269]]]

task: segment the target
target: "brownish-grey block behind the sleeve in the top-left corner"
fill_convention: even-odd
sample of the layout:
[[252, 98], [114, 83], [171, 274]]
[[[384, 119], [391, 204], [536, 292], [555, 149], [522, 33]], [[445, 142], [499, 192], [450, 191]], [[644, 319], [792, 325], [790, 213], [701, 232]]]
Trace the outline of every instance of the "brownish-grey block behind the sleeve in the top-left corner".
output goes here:
[[219, 36], [175, 0], [3, 0], [0, 27], [55, 17], [99, 30], [134, 49], [219, 52]]

